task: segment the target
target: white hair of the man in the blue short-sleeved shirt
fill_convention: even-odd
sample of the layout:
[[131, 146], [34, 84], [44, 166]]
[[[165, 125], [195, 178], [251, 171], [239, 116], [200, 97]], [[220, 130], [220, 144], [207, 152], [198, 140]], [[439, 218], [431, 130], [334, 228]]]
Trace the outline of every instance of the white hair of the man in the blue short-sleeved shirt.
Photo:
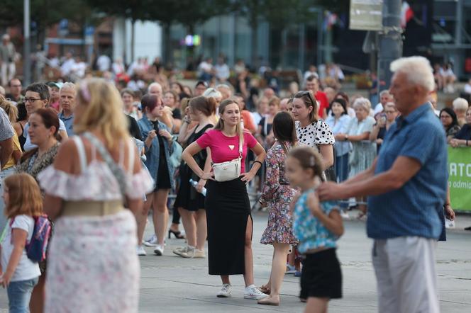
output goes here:
[[401, 57], [391, 63], [391, 72], [406, 74], [411, 84], [423, 86], [428, 91], [435, 90], [433, 69], [425, 57]]

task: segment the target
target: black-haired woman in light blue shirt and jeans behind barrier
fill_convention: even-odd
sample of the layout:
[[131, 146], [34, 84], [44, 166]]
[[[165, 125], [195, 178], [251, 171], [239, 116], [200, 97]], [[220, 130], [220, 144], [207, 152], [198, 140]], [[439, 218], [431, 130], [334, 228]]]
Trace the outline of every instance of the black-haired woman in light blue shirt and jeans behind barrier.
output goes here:
[[345, 134], [350, 123], [350, 116], [347, 113], [347, 103], [342, 98], [333, 99], [329, 110], [332, 112], [326, 120], [328, 127], [331, 127], [333, 137], [336, 139], [334, 145], [336, 154], [336, 176], [337, 182], [341, 183], [348, 178], [348, 152], [350, 152], [350, 142], [338, 141], [337, 134]]

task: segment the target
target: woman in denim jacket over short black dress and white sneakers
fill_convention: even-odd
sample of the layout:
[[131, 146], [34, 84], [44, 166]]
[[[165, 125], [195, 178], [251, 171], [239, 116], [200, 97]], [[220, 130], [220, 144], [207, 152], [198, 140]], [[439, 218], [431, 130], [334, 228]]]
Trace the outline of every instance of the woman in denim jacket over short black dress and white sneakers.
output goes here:
[[[154, 253], [162, 256], [164, 252], [164, 238], [167, 232], [168, 210], [167, 198], [171, 188], [174, 187], [172, 179], [174, 168], [170, 163], [170, 154], [174, 149], [174, 141], [168, 127], [158, 118], [163, 114], [162, 99], [151, 94], [146, 94], [141, 100], [143, 118], [138, 120], [140, 132], [145, 138], [145, 166], [148, 167], [150, 176], [155, 181], [153, 193], [147, 196], [143, 214], [138, 220], [138, 243], [143, 240], [145, 220], [150, 207], [154, 208], [154, 229], [157, 234], [157, 246]], [[138, 246], [138, 254], [145, 255], [143, 246]]]

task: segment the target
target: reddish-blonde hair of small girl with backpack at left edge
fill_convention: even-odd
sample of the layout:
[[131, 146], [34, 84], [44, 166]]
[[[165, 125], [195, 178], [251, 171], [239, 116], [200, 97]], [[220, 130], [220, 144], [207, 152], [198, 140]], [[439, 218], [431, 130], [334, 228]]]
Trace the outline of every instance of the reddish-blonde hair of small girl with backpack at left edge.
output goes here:
[[4, 183], [9, 190], [9, 203], [5, 207], [7, 217], [43, 214], [43, 198], [33, 176], [27, 173], [14, 174], [6, 177]]

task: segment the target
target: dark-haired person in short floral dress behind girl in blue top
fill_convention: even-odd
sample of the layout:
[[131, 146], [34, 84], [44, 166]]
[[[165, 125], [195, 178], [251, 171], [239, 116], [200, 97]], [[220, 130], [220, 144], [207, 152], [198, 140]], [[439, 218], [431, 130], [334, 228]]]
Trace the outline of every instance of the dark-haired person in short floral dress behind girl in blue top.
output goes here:
[[297, 243], [292, 229], [292, 216], [289, 205], [296, 190], [289, 186], [284, 175], [284, 160], [289, 150], [296, 144], [296, 130], [294, 120], [289, 113], [280, 112], [273, 119], [273, 133], [277, 141], [267, 152], [267, 177], [262, 190], [260, 204], [270, 207], [270, 215], [262, 244], [272, 244], [273, 253], [272, 273], [267, 285], [260, 290], [270, 294], [269, 297], [259, 300], [260, 305], [279, 305], [279, 289], [285, 271], [285, 262], [289, 254], [289, 245]]

